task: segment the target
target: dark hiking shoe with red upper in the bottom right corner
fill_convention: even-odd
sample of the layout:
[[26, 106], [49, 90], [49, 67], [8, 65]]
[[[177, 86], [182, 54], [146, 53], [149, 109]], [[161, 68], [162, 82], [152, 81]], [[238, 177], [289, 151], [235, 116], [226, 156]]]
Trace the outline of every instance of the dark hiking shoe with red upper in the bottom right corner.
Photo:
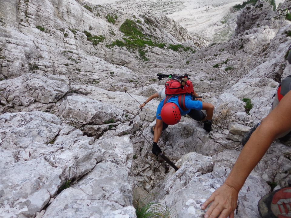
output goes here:
[[259, 200], [259, 214], [263, 218], [291, 217], [291, 187], [266, 194]]

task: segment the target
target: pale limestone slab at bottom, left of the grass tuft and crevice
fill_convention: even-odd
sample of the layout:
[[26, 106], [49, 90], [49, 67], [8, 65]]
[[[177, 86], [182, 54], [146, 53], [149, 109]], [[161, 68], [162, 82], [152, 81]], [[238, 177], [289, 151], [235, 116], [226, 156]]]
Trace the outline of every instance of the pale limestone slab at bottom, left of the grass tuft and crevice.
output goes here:
[[129, 176], [133, 151], [129, 137], [98, 140], [93, 146], [104, 149], [101, 162], [77, 184], [62, 191], [43, 218], [136, 217]]

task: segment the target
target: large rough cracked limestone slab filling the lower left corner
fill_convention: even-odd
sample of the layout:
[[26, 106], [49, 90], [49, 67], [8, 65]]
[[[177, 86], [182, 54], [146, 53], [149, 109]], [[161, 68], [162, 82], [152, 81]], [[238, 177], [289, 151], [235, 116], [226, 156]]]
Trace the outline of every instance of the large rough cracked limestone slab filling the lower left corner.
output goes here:
[[44, 112], [5, 113], [1, 129], [1, 214], [34, 217], [66, 183], [102, 158], [93, 138]]

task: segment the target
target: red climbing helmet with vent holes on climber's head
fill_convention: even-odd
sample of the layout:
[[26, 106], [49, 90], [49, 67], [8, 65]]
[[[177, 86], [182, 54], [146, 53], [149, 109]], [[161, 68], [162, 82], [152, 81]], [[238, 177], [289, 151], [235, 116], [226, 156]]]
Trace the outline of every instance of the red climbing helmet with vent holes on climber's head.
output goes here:
[[181, 113], [179, 107], [170, 102], [162, 107], [161, 111], [162, 121], [168, 125], [174, 125], [180, 122]]

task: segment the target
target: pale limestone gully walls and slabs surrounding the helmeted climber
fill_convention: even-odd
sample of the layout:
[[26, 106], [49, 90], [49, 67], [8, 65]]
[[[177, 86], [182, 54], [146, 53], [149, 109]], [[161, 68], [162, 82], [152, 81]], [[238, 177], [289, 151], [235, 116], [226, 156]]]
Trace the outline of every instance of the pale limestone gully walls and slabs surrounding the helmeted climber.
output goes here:
[[[152, 12], [0, 1], [1, 218], [136, 217], [134, 202], [152, 193], [159, 196], [147, 200], [182, 217], [203, 216], [200, 205], [222, 185], [243, 135], [268, 115], [291, 71], [290, 1], [275, 12], [263, 1], [247, 5], [235, 12], [236, 35], [211, 44]], [[189, 74], [215, 107], [210, 133], [188, 115], [162, 131], [158, 144], [177, 172], [152, 154], [161, 99], [139, 108], [164, 88], [158, 73]], [[287, 185], [290, 149], [271, 144], [240, 191], [235, 217], [259, 218], [257, 201], [273, 184]]]

